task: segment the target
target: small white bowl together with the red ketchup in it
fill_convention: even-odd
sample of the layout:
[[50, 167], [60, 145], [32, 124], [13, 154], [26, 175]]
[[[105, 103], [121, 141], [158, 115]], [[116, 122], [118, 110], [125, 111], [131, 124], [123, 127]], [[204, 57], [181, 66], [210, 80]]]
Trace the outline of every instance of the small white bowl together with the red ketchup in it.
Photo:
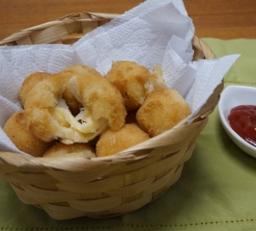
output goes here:
[[228, 86], [220, 95], [218, 113], [230, 139], [256, 158], [256, 88]]

